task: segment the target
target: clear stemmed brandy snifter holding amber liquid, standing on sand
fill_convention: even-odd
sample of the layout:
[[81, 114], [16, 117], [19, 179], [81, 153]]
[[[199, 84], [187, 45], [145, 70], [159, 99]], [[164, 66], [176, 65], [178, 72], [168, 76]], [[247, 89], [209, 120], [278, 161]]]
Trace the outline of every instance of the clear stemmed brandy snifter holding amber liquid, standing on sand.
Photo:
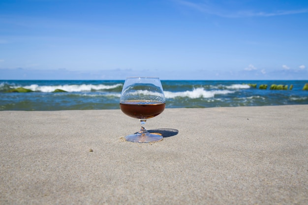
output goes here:
[[141, 122], [139, 132], [125, 136], [125, 140], [137, 143], [151, 143], [162, 140], [162, 135], [149, 133], [144, 127], [147, 119], [161, 114], [165, 109], [165, 95], [159, 78], [126, 78], [121, 97], [122, 112]]

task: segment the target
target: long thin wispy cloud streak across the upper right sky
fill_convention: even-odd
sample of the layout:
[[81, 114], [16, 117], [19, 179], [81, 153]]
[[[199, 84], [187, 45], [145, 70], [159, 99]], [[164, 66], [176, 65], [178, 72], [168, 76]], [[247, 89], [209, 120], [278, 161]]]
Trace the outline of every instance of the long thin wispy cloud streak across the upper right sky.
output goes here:
[[[273, 12], [265, 11], [253, 11], [253, 10], [233, 10], [225, 9], [211, 1], [200, 1], [191, 2], [188, 0], [173, 0], [176, 3], [186, 6], [190, 9], [194, 9], [206, 14], [216, 15], [225, 18], [244, 18], [244, 17], [271, 17], [271, 16], [282, 16], [291, 14], [308, 13], [308, 8], [297, 9], [297, 10], [277, 10]], [[213, 1], [214, 2], [214, 1]]]

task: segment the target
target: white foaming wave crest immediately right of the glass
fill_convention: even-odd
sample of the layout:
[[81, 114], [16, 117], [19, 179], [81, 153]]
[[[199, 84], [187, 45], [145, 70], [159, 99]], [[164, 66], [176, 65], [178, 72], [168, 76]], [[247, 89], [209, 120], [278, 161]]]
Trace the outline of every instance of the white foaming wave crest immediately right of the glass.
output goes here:
[[170, 92], [165, 91], [166, 98], [176, 98], [176, 97], [189, 97], [189, 98], [211, 98], [216, 94], [229, 94], [234, 93], [231, 90], [205, 90], [204, 88], [195, 88], [191, 91], [187, 90], [184, 92]]

